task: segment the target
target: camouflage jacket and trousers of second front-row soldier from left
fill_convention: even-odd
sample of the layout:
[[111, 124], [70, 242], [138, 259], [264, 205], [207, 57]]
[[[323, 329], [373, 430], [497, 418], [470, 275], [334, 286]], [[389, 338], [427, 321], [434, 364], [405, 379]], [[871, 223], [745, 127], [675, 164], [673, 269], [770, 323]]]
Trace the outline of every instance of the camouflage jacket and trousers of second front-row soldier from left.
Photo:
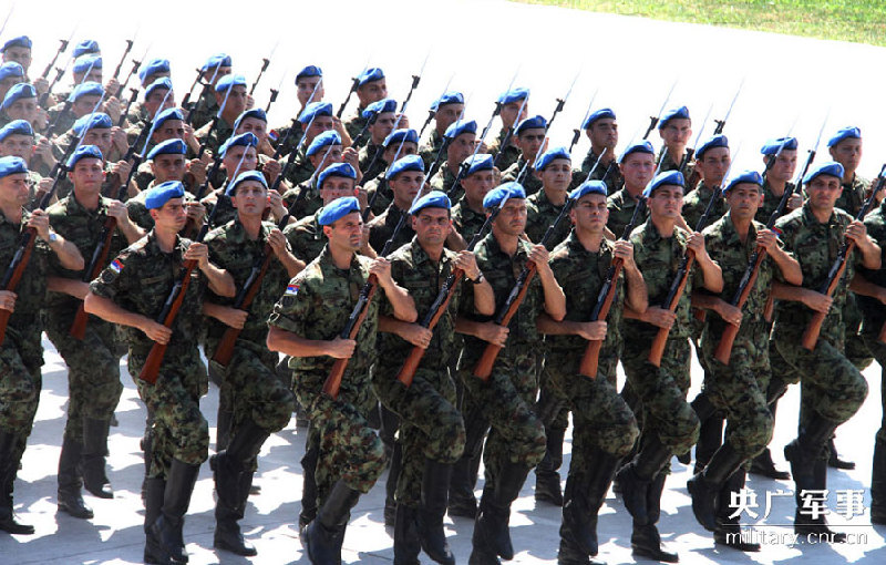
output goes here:
[[[389, 255], [391, 276], [409, 290], [420, 316], [430, 311], [440, 288], [454, 269], [455, 253], [444, 249], [434, 263], [413, 238]], [[396, 502], [416, 507], [422, 497], [425, 458], [440, 463], [455, 463], [464, 450], [465, 431], [462, 414], [455, 408], [455, 383], [450, 377], [450, 361], [459, 353], [461, 337], [455, 333], [455, 312], [462, 286], [456, 288], [437, 326], [434, 337], [406, 388], [395, 378], [412, 346], [394, 333], [379, 336], [379, 359], [373, 389], [382, 403], [400, 415], [400, 443], [403, 466], [396, 485]], [[393, 316], [387, 300], [382, 314]]]

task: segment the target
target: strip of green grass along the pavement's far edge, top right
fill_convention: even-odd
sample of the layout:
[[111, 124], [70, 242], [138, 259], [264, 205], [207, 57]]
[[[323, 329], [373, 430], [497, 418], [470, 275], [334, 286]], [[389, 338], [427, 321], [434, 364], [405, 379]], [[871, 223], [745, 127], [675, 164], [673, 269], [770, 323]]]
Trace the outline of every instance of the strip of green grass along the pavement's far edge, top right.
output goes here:
[[710, 25], [886, 45], [882, 0], [516, 0]]

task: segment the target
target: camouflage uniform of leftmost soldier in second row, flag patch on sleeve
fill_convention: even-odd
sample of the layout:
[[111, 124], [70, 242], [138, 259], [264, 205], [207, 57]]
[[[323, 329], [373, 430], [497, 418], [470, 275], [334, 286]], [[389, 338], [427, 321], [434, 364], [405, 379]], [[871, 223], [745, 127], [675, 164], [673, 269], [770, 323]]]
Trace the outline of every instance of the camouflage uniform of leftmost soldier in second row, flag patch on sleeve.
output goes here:
[[[188, 239], [179, 237], [173, 251], [165, 254], [152, 230], [124, 249], [92, 281], [90, 290], [113, 300], [125, 310], [156, 319], [182, 271], [182, 257], [189, 245]], [[173, 336], [166, 347], [157, 381], [148, 384], [135, 379], [138, 396], [153, 417], [150, 477], [167, 476], [173, 460], [199, 465], [208, 455], [209, 427], [199, 409], [199, 399], [208, 388], [206, 367], [197, 349], [202, 287], [199, 271], [195, 269], [173, 323]], [[132, 327], [125, 327], [124, 335], [130, 345], [130, 374], [137, 376], [154, 341], [142, 330]]]

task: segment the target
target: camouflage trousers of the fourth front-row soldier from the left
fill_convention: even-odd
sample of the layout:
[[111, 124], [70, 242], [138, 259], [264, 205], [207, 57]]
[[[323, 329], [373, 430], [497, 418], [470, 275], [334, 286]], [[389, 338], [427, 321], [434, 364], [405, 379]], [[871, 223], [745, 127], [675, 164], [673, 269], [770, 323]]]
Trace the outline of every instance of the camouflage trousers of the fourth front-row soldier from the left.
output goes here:
[[[580, 352], [577, 355], [580, 356]], [[637, 419], [602, 371], [596, 379], [565, 372], [559, 363], [546, 363], [543, 380], [573, 412], [573, 459], [569, 473], [588, 473], [588, 458], [599, 449], [617, 458], [627, 455], [640, 430]]]

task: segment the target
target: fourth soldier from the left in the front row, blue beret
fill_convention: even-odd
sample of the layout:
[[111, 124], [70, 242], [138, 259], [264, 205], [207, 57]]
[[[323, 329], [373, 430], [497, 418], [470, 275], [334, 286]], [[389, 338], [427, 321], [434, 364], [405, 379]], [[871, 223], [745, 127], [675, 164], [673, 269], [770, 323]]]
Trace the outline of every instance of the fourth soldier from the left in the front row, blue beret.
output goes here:
[[[569, 168], [565, 173], [568, 179]], [[573, 412], [575, 425], [557, 558], [562, 565], [585, 564], [589, 555], [597, 555], [597, 513], [618, 462], [630, 452], [640, 434], [633, 412], [615, 384], [622, 339], [619, 330], [622, 302], [635, 311], [645, 311], [646, 286], [633, 263], [630, 242], [622, 238], [610, 243], [604, 236], [608, 214], [606, 194], [601, 181], [588, 181], [573, 191], [575, 205], [569, 217], [575, 229], [550, 255], [550, 269], [564, 286], [566, 316], [559, 322], [544, 314], [538, 319], [538, 329], [548, 333], [545, 340], [548, 359], [556, 360], [545, 364], [544, 383], [548, 394]], [[625, 285], [616, 288], [608, 318], [589, 321], [595, 302], [587, 297], [599, 295], [616, 258], [624, 261], [624, 275], [619, 278], [624, 278]], [[619, 280], [612, 284], [618, 285]], [[588, 339], [604, 341], [597, 374], [581, 374], [579, 368]], [[559, 441], [563, 442], [563, 434]]]

